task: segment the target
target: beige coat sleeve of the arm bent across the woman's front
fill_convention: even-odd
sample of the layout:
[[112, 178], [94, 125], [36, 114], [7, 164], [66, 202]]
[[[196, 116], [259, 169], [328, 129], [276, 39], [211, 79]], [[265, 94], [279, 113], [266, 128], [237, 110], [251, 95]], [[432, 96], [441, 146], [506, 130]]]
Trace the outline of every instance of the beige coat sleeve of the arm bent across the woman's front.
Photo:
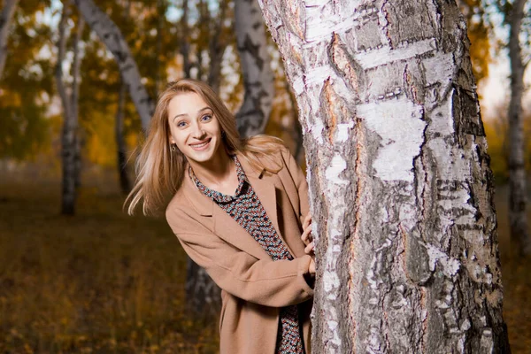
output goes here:
[[189, 257], [229, 294], [272, 307], [299, 304], [313, 296], [304, 279], [310, 256], [274, 262], [258, 259], [214, 235], [180, 208], [168, 208], [166, 220]]

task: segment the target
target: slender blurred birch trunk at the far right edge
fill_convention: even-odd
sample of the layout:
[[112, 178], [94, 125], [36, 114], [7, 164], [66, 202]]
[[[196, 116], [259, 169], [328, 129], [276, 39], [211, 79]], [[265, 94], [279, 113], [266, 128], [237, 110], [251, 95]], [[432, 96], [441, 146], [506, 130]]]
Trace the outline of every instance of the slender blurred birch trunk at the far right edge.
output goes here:
[[509, 102], [509, 221], [511, 237], [523, 255], [531, 254], [531, 237], [527, 228], [527, 186], [524, 158], [524, 123], [522, 95], [524, 65], [519, 34], [526, 0], [515, 0], [509, 15], [509, 59], [511, 62], [511, 99]]

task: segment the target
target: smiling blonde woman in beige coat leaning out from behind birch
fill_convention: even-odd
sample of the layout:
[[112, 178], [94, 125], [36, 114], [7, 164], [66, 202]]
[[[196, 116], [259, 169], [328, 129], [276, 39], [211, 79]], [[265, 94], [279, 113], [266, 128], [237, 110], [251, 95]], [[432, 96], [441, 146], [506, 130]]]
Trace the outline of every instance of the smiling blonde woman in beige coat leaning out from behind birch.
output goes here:
[[221, 288], [220, 352], [310, 353], [308, 187], [281, 140], [241, 139], [210, 87], [181, 80], [159, 96], [136, 167], [128, 212], [165, 207], [184, 250]]

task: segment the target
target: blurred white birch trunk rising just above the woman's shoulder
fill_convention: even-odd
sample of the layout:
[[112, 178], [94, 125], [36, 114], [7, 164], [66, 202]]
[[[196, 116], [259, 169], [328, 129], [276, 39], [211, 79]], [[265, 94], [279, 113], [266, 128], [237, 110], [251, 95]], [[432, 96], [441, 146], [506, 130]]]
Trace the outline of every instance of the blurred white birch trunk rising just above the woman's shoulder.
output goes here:
[[257, 0], [235, 0], [236, 42], [245, 89], [236, 124], [243, 137], [264, 133], [273, 104], [274, 75], [263, 22]]

